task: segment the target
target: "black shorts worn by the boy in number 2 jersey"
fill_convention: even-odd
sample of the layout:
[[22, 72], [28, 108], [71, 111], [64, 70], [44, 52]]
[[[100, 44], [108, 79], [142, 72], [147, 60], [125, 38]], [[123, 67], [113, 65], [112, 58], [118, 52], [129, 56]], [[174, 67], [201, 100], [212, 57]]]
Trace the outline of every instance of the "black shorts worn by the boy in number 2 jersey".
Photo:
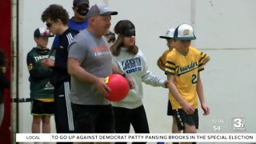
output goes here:
[[184, 110], [173, 110], [174, 118], [176, 119], [178, 130], [185, 130], [185, 123], [190, 126], [195, 126], [198, 129], [198, 109], [194, 110], [194, 114], [186, 114]]

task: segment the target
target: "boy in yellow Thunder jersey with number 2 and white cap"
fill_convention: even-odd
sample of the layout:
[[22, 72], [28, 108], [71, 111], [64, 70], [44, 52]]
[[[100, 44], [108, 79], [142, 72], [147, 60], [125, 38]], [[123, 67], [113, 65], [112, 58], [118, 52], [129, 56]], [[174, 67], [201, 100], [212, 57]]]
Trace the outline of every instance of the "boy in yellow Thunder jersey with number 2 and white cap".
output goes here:
[[198, 129], [198, 101], [204, 115], [210, 114], [206, 105], [200, 71], [210, 60], [207, 54], [190, 46], [195, 39], [194, 30], [187, 24], [178, 26], [174, 31], [176, 48], [167, 54], [166, 75], [169, 82], [170, 102], [173, 106], [178, 130], [196, 133]]

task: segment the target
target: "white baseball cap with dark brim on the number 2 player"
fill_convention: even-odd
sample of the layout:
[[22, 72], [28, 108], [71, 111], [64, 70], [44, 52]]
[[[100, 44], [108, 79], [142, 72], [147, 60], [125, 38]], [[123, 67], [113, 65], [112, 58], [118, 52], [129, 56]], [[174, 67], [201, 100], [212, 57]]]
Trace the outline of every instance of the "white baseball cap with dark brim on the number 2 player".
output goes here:
[[196, 39], [192, 26], [188, 24], [178, 26], [174, 31], [174, 38], [182, 41]]

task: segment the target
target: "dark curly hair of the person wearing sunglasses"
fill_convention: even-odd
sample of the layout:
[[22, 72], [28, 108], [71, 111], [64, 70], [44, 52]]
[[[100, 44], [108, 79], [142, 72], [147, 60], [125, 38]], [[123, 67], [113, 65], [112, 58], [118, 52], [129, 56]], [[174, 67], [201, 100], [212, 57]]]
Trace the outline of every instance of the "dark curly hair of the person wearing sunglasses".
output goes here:
[[63, 25], [67, 25], [69, 21], [69, 14], [61, 5], [53, 4], [48, 6], [42, 13], [42, 22], [46, 22], [48, 18], [55, 22], [60, 19]]

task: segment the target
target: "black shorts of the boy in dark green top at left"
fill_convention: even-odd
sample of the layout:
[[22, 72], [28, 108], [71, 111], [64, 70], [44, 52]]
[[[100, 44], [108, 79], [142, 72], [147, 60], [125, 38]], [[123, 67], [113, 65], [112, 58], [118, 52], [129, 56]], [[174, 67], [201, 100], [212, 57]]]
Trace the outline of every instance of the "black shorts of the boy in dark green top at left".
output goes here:
[[54, 102], [42, 102], [37, 99], [32, 99], [31, 102], [32, 115], [54, 115]]

